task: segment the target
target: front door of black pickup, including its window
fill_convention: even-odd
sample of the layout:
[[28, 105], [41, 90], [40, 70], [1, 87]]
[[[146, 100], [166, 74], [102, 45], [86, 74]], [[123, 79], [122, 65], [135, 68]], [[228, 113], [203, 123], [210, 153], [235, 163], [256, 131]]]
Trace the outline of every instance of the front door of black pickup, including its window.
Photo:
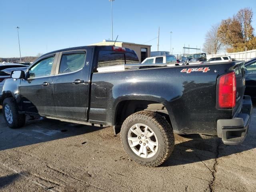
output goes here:
[[57, 62], [55, 54], [42, 58], [30, 67], [27, 78], [21, 80], [20, 95], [25, 112], [56, 116], [52, 95], [54, 62]]

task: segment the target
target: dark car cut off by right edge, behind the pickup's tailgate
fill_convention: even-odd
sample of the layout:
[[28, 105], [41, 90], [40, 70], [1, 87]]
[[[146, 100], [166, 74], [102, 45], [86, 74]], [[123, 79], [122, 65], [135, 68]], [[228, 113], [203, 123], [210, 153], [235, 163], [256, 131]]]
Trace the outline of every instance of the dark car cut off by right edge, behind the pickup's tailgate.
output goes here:
[[256, 58], [248, 60], [244, 64], [246, 73], [245, 94], [256, 100]]

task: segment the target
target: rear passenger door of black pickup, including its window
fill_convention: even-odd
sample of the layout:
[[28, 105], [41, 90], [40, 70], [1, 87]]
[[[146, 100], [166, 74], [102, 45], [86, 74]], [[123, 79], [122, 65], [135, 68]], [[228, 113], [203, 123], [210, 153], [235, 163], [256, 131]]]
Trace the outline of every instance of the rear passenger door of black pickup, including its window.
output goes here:
[[92, 48], [60, 52], [53, 78], [57, 116], [86, 119]]

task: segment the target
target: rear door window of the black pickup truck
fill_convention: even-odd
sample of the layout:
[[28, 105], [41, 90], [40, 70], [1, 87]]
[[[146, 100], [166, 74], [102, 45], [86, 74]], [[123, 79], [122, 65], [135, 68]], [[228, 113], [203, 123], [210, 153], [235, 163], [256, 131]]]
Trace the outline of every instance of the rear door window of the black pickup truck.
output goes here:
[[84, 67], [85, 53], [62, 54], [59, 74], [75, 72]]

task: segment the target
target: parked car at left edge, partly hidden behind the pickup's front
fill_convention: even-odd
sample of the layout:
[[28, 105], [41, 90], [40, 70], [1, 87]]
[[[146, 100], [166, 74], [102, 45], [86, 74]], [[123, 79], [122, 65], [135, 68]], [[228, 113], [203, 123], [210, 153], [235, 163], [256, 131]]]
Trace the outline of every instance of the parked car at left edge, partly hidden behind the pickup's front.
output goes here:
[[[0, 97], [2, 96], [2, 89], [4, 86], [4, 82], [6, 79], [10, 78], [10, 73], [4, 71], [8, 68], [18, 68], [18, 67], [24, 67], [25, 65], [22, 64], [16, 64], [16, 63], [0, 63]], [[16, 69], [14, 69], [16, 70]]]

